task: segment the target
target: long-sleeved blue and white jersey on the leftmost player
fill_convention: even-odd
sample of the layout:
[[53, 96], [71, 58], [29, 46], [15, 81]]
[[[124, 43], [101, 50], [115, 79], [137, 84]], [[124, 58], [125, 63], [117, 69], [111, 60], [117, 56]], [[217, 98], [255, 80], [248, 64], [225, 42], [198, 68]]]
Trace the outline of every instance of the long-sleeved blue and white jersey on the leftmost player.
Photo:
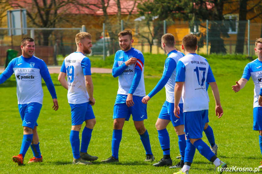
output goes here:
[[32, 56], [25, 58], [23, 56], [16, 57], [6, 67], [5, 71], [0, 75], [0, 84], [5, 82], [11, 75], [15, 73], [16, 94], [18, 104], [27, 104], [37, 102], [43, 104], [43, 88], [42, 77], [46, 82], [46, 86], [52, 96], [56, 98], [56, 90], [50, 77], [46, 63]]

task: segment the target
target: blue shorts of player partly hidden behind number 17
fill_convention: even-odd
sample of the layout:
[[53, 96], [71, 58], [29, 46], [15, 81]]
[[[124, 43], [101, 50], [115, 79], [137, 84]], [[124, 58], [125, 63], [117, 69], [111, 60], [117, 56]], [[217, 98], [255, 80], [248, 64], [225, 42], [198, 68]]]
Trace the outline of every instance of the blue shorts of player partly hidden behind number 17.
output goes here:
[[165, 103], [163, 104], [158, 118], [164, 119], [164, 120], [170, 120], [174, 127], [184, 124], [183, 103], [179, 103], [178, 106], [180, 108], [180, 110], [179, 110], [180, 111], [180, 114], [179, 114], [180, 118], [175, 117], [175, 114], [174, 114], [175, 104], [169, 103], [168, 101], [165, 101]]

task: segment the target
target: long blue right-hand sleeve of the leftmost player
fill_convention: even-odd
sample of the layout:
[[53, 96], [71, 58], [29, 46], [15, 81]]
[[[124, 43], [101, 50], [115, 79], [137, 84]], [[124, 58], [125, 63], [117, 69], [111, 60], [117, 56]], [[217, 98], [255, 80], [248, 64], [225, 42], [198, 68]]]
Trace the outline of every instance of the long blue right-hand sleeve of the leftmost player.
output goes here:
[[46, 87], [47, 89], [49, 90], [49, 93], [51, 94], [52, 98], [57, 98], [56, 97], [56, 89], [55, 89], [55, 86], [53, 84], [53, 81], [51, 79], [51, 76], [49, 74], [49, 71], [48, 71], [48, 68], [45, 64], [45, 62], [43, 61], [43, 64], [40, 68], [40, 74], [41, 76], [43, 77], [43, 79], [45, 80], [46, 82]]

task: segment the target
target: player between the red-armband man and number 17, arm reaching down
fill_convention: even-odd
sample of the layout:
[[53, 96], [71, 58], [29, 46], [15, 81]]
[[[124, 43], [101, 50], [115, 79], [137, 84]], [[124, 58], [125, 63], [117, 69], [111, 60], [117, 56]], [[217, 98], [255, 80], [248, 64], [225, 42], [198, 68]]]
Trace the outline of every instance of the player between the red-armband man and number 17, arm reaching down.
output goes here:
[[[179, 151], [181, 154], [181, 161], [173, 168], [182, 167], [184, 165], [185, 156], [185, 132], [184, 132], [184, 120], [183, 113], [180, 113], [180, 118], [176, 118], [174, 114], [174, 87], [175, 87], [175, 75], [176, 75], [176, 64], [177, 61], [184, 56], [181, 52], [175, 50], [175, 38], [173, 34], [164, 34], [161, 38], [161, 46], [168, 57], [165, 60], [164, 71], [162, 78], [159, 80], [155, 88], [142, 99], [142, 102], [147, 104], [148, 101], [157, 94], [165, 86], [166, 101], [162, 106], [159, 113], [158, 119], [155, 123], [158, 131], [158, 139], [160, 146], [163, 150], [163, 158], [158, 163], [153, 164], [154, 166], [171, 166], [172, 159], [170, 157], [170, 139], [166, 126], [171, 121], [175, 132], [178, 135]], [[182, 98], [179, 103], [179, 107], [183, 108]]]

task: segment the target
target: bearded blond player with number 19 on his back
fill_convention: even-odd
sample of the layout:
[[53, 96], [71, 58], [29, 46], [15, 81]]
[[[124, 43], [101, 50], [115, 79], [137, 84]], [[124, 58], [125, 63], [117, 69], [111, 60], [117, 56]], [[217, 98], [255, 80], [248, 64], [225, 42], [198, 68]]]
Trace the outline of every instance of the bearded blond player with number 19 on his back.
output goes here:
[[[71, 107], [72, 129], [70, 143], [73, 152], [73, 164], [92, 164], [88, 161], [97, 160], [97, 156], [87, 153], [91, 134], [96, 124], [92, 106], [95, 104], [93, 97], [94, 86], [91, 77], [91, 63], [85, 54], [90, 54], [92, 36], [87, 32], [76, 35], [77, 51], [67, 56], [62, 64], [58, 80], [67, 89], [67, 99]], [[67, 81], [65, 79], [67, 77]], [[86, 126], [82, 132], [80, 149], [79, 131], [83, 122]]]

